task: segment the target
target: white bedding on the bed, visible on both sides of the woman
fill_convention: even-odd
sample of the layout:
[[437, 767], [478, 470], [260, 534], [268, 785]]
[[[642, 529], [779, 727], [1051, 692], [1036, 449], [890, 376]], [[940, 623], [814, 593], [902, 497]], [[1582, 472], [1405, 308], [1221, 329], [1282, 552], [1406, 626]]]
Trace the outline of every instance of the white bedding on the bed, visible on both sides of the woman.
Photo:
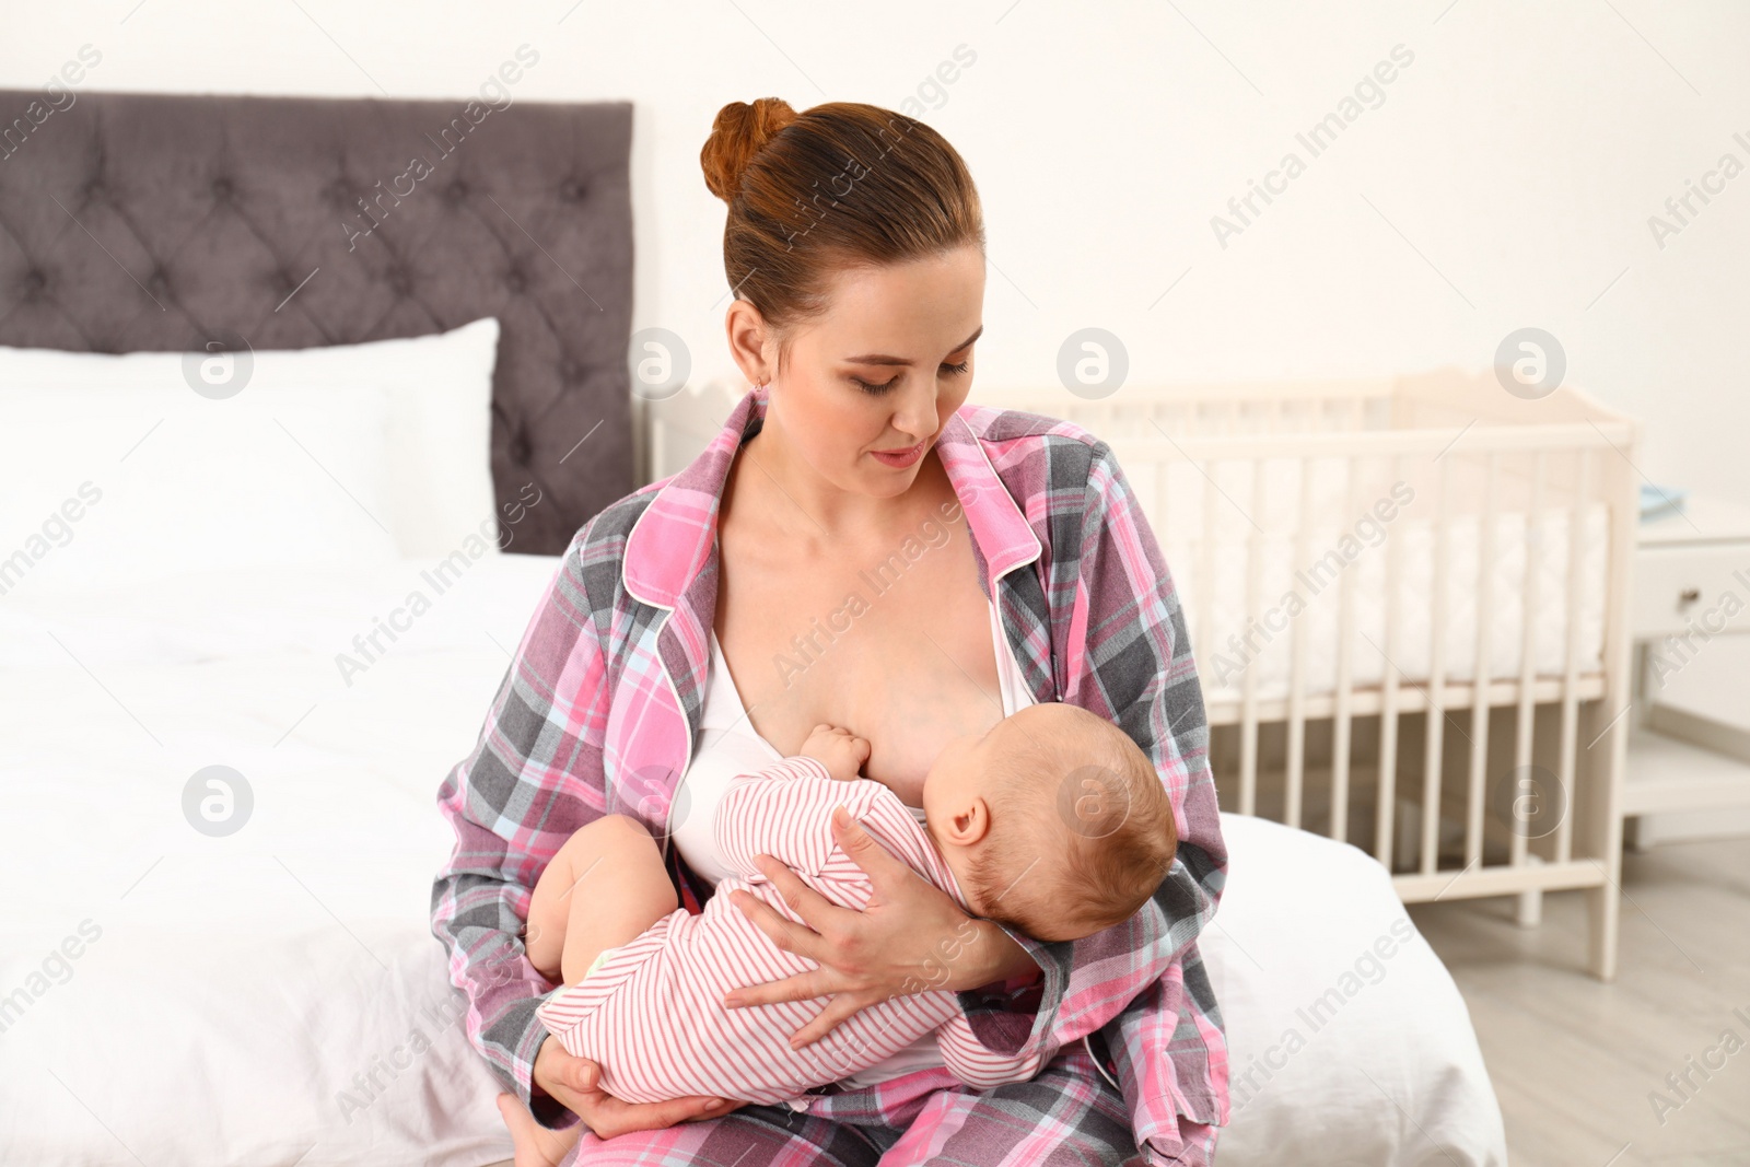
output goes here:
[[[427, 924], [452, 843], [436, 789], [556, 563], [488, 556], [443, 595], [408, 562], [0, 600], [0, 1160], [509, 1157]], [[430, 609], [346, 684], [336, 654], [415, 590]], [[210, 765], [254, 796], [229, 836], [184, 817]], [[1349, 847], [1242, 819], [1228, 840], [1204, 950], [1239, 1074], [1402, 908]], [[1452, 1162], [1503, 1162], [1463, 1003], [1419, 940], [1339, 1022], [1236, 1106], [1223, 1164], [1446, 1162], [1416, 1123]]]

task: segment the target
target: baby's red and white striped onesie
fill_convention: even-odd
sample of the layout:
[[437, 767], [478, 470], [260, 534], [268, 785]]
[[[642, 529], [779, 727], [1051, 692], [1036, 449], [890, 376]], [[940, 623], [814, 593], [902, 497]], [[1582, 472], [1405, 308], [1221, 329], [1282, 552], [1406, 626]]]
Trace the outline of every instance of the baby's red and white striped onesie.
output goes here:
[[826, 1004], [824, 997], [723, 1008], [730, 989], [816, 968], [774, 947], [730, 903], [726, 892], [742, 887], [798, 919], [760, 873], [754, 856], [779, 859], [833, 903], [868, 903], [870, 878], [833, 840], [831, 814], [840, 805], [901, 863], [966, 906], [952, 870], [892, 791], [866, 779], [835, 782], [812, 758], [789, 758], [737, 779], [718, 807], [718, 849], [737, 875], [718, 884], [704, 912], [679, 908], [663, 917], [593, 975], [548, 999], [536, 1017], [570, 1053], [595, 1060], [602, 1087], [625, 1102], [693, 1094], [789, 1102], [931, 1031], [948, 1071], [973, 1088], [1031, 1078], [1041, 1050], [987, 1050], [957, 996], [947, 990], [891, 997], [802, 1050], [789, 1048], [789, 1036]]

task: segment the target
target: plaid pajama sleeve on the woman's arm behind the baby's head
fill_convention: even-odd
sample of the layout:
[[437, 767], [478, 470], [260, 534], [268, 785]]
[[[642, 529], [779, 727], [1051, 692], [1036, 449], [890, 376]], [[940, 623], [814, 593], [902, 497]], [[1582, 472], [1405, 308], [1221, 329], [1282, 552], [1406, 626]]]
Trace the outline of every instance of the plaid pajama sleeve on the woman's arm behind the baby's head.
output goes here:
[[[1090, 455], [1076, 604], [1062, 633], [1052, 633], [1066, 646], [1064, 700], [1111, 717], [1150, 754], [1172, 798], [1180, 847], [1129, 929], [1108, 929], [1069, 952], [1038, 947], [1057, 969], [1045, 969], [1040, 1024], [1024, 1046], [1060, 1046], [1101, 1029], [1148, 1162], [1206, 1167], [1228, 1120], [1227, 1039], [1197, 952], [1227, 875], [1208, 721], [1160, 548], [1111, 450], [1094, 443]], [[1003, 1022], [996, 1015], [984, 1027], [996, 1036]]]

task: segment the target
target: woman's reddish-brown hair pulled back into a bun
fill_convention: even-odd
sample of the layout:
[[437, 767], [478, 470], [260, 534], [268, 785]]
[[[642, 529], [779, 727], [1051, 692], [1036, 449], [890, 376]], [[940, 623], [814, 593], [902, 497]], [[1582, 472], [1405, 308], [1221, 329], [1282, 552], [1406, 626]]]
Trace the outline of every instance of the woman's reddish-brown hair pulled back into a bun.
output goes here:
[[928, 124], [861, 101], [798, 114], [782, 98], [718, 110], [698, 152], [730, 205], [723, 269], [779, 334], [828, 306], [847, 266], [882, 266], [964, 245], [984, 254], [984, 210], [966, 163]]

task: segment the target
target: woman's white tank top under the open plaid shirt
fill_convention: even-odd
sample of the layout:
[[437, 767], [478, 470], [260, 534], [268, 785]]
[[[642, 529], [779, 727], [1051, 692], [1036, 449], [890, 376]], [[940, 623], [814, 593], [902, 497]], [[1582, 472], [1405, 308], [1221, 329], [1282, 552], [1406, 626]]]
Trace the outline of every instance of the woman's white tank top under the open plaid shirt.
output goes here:
[[[990, 640], [996, 646], [996, 679], [1003, 693], [1003, 716], [1008, 717], [1015, 710], [1032, 705], [1034, 700], [1027, 689], [1026, 677], [1020, 674], [1020, 665], [1015, 661], [1015, 651], [1003, 633], [1003, 618], [998, 614], [996, 604], [989, 607]], [[718, 801], [738, 775], [763, 770], [780, 759], [782, 754], [754, 733], [752, 723], [747, 721], [740, 693], [735, 689], [735, 681], [730, 677], [730, 668], [723, 660], [723, 646], [718, 644], [718, 633], [712, 632], [710, 672], [705, 686], [705, 709], [700, 716], [698, 751], [693, 754], [686, 773], [681, 775], [681, 786], [676, 789], [668, 810], [668, 836], [674, 840], [676, 850], [686, 859], [686, 866], [712, 887], [730, 875], [730, 870], [718, 854], [716, 835], [712, 831]], [[910, 807], [908, 810], [917, 815], [919, 822], [924, 821], [920, 807]], [[936, 1046], [934, 1034], [924, 1034], [905, 1050], [844, 1078], [842, 1083], [852, 1088], [872, 1087], [889, 1078], [942, 1064], [942, 1052]]]

